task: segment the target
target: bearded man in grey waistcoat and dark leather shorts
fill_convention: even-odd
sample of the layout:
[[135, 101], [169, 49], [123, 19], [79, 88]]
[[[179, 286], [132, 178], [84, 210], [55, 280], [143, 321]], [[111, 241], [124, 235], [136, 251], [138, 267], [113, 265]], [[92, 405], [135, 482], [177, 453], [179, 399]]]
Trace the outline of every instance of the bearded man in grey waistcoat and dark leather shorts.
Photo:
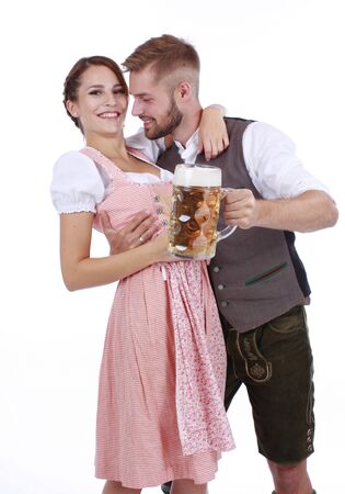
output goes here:
[[[133, 114], [142, 120], [147, 137], [173, 135], [159, 165], [173, 171], [181, 160], [205, 161], [197, 155], [202, 106], [195, 48], [163, 35], [139, 46], [124, 66]], [[225, 223], [239, 228], [219, 243], [209, 276], [228, 350], [226, 407], [244, 383], [275, 493], [311, 494], [312, 353], [303, 310], [310, 289], [294, 232], [333, 226], [337, 210], [284, 134], [249, 120], [225, 122], [230, 145], [211, 162], [222, 169], [223, 187], [232, 188]], [[143, 237], [135, 222], [129, 228]], [[162, 489], [169, 492], [168, 484]]]

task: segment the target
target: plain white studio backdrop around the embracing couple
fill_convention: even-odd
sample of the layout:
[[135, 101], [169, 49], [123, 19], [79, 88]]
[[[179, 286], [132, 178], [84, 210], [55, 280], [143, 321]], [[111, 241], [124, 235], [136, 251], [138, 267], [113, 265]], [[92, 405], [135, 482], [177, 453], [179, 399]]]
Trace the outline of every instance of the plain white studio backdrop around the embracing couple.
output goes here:
[[[265, 121], [344, 205], [342, 0], [15, 1], [1, 11], [0, 493], [94, 494], [97, 372], [115, 287], [69, 293], [58, 260], [51, 167], [82, 139], [61, 104], [81, 56], [117, 61], [148, 37], [186, 37], [202, 57], [202, 102]], [[128, 119], [127, 132], [137, 127]], [[344, 492], [344, 223], [298, 235], [312, 287], [318, 493]], [[95, 236], [95, 254], [107, 247]], [[135, 404], [134, 404], [135, 406]], [[229, 413], [238, 448], [211, 494], [267, 494], [244, 391]], [[148, 445], [149, 447], [149, 445]], [[148, 489], [147, 493], [159, 493]]]

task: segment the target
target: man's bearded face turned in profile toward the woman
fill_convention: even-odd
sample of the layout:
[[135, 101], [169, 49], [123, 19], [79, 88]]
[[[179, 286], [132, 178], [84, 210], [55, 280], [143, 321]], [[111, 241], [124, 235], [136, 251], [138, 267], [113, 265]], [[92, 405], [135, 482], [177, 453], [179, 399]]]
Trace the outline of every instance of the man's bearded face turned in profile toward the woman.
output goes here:
[[157, 139], [171, 134], [181, 123], [174, 96], [165, 82], [156, 82], [150, 68], [130, 72], [129, 92], [134, 97], [131, 114], [143, 122], [145, 135]]

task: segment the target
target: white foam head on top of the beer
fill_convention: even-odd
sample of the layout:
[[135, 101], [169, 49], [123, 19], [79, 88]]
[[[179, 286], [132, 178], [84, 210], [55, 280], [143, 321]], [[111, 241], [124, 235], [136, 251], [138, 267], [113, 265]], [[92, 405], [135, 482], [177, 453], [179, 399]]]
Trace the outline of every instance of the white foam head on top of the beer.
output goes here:
[[220, 187], [221, 169], [211, 166], [177, 165], [173, 183], [180, 187]]

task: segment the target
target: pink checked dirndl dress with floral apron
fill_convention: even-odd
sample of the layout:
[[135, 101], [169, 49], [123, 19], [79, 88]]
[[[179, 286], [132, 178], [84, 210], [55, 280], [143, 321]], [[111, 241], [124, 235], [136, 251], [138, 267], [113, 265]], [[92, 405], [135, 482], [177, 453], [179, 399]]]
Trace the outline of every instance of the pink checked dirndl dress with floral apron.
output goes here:
[[[134, 156], [147, 160], [135, 149]], [[119, 229], [139, 211], [168, 227], [171, 182], [136, 183], [97, 150], [111, 191], [97, 205]], [[100, 371], [95, 475], [126, 487], [214, 479], [234, 447], [223, 407], [227, 356], [204, 261], [152, 265], [118, 282]]]

